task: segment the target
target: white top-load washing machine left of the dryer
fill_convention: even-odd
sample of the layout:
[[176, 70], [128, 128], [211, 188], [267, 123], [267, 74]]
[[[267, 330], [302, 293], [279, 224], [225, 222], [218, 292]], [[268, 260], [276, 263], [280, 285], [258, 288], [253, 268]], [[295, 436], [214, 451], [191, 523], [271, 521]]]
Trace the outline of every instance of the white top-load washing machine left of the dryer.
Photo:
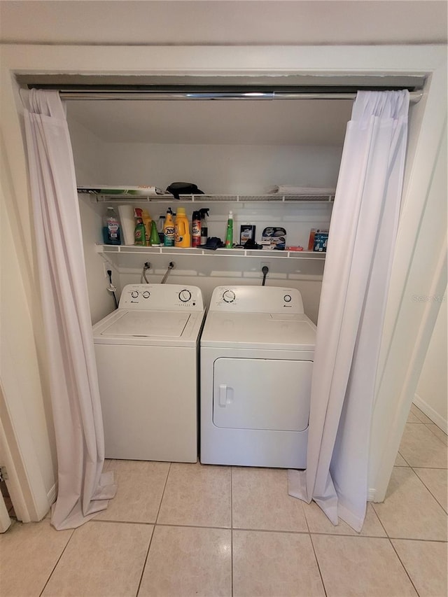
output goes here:
[[93, 327], [106, 458], [196, 462], [200, 288], [130, 284]]

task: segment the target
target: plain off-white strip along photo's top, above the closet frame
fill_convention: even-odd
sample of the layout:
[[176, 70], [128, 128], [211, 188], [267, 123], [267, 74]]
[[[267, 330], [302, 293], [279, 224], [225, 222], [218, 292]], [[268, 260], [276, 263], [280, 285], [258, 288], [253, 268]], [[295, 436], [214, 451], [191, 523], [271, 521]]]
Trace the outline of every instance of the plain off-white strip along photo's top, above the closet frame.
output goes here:
[[0, 0], [2, 43], [447, 43], [445, 0]]

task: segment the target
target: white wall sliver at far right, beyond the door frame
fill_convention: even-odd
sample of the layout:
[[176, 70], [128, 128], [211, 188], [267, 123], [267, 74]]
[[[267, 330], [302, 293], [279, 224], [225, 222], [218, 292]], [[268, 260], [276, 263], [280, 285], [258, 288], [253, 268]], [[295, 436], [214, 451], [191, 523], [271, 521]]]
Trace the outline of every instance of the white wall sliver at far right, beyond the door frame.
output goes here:
[[431, 421], [448, 433], [447, 423], [447, 290], [443, 297], [435, 328], [414, 397], [417, 405]]

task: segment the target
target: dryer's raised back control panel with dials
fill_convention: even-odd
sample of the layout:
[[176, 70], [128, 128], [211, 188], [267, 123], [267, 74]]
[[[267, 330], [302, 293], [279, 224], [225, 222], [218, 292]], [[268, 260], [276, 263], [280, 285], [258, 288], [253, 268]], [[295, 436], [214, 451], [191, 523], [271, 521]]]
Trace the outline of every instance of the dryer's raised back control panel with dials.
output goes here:
[[218, 286], [211, 296], [209, 311], [237, 313], [303, 313], [297, 288], [275, 286]]

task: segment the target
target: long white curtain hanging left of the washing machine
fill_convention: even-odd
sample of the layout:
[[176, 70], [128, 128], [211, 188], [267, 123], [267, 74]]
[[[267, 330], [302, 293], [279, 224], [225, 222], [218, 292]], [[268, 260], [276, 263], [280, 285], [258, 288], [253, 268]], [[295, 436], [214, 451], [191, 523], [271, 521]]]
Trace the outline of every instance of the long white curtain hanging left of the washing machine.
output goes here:
[[57, 444], [51, 524], [75, 528], [116, 493], [104, 433], [69, 128], [57, 91], [31, 90], [29, 181]]

